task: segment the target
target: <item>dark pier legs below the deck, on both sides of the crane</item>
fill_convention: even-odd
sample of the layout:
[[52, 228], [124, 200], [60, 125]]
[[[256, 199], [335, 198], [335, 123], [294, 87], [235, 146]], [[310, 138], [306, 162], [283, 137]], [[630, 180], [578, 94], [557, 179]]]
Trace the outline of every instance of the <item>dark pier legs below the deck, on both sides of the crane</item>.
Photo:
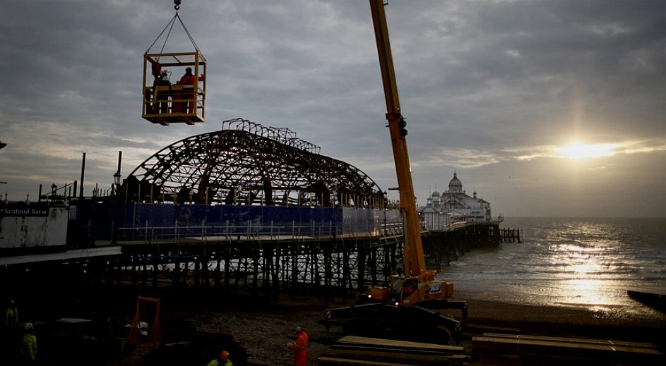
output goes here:
[[[499, 243], [499, 233], [493, 226], [470, 226], [446, 236], [430, 233], [424, 238], [429, 266], [439, 269], [472, 248]], [[328, 305], [332, 298], [346, 303], [370, 286], [385, 285], [399, 270], [402, 233], [381, 234], [142, 240], [121, 243], [121, 254], [83, 261], [86, 281], [138, 292], [194, 289], [268, 300], [277, 300], [280, 293], [292, 298], [307, 294]]]

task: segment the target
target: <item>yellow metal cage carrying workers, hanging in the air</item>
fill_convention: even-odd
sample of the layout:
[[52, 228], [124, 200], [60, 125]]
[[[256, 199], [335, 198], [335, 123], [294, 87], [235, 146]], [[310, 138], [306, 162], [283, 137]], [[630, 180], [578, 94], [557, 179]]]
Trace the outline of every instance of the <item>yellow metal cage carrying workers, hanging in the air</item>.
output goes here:
[[141, 117], [162, 126], [205, 122], [206, 64], [198, 50], [145, 53]]

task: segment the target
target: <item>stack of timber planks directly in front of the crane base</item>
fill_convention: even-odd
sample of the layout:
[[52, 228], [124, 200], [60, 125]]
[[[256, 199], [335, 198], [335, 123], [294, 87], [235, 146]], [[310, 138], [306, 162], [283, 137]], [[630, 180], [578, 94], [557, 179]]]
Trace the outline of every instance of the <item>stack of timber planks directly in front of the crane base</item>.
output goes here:
[[317, 365], [463, 365], [464, 348], [432, 343], [344, 336], [317, 359]]

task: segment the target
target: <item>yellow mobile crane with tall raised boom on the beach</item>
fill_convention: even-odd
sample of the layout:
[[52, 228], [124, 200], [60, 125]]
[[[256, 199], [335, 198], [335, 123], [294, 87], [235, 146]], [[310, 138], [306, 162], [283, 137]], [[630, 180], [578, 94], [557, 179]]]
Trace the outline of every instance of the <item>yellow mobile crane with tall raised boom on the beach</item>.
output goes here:
[[[383, 0], [369, 1], [403, 214], [403, 273], [389, 276], [388, 286], [373, 286], [357, 299], [357, 305], [326, 310], [325, 321], [330, 327], [333, 316], [349, 318], [343, 326], [347, 334], [444, 343], [453, 336], [459, 342], [467, 303], [449, 300], [453, 283], [436, 280], [436, 271], [426, 267], [407, 149], [407, 123], [400, 109], [386, 12]], [[441, 315], [439, 310], [444, 309], [461, 310], [462, 321]]]

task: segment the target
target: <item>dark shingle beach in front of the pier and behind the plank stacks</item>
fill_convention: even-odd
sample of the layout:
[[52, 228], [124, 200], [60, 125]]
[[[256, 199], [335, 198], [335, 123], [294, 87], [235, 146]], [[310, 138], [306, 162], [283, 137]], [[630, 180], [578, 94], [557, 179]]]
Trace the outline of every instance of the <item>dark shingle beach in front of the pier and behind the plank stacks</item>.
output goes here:
[[[317, 296], [284, 294], [275, 301], [260, 294], [219, 291], [185, 290], [172, 288], [161, 291], [137, 291], [131, 288], [111, 289], [86, 287], [76, 293], [85, 293], [76, 299], [73, 294], [61, 296], [44, 307], [22, 307], [28, 319], [49, 322], [49, 319], [67, 316], [115, 322], [120, 326], [118, 340], [129, 336], [126, 324], [131, 322], [136, 310], [137, 295], [161, 299], [160, 324], [162, 341], [151, 346], [147, 339], [136, 346], [124, 342], [119, 349], [108, 353], [93, 353], [99, 365], [206, 365], [216, 353], [229, 350], [234, 365], [290, 365], [293, 353], [287, 343], [295, 340], [295, 327], [303, 327], [309, 334], [309, 365], [327, 353], [329, 346], [343, 336], [340, 327], [319, 324], [324, 317], [324, 302]], [[183, 291], [185, 290], [185, 291]], [[44, 295], [44, 293], [42, 293]], [[463, 329], [465, 350], [471, 348], [471, 336], [482, 331], [508, 329], [523, 335], [561, 336], [570, 338], [594, 338], [609, 341], [655, 343], [663, 349], [666, 343], [662, 334], [666, 331], [666, 315], [660, 312], [606, 312], [585, 306], [547, 306], [518, 304], [511, 301], [484, 300], [480, 293], [457, 290], [456, 300], [468, 302], [468, 321]], [[339, 298], [331, 299], [328, 307], [351, 305]], [[27, 305], [27, 304], [26, 304]], [[142, 307], [142, 319], [151, 323], [155, 316], [150, 307]], [[453, 316], [458, 316], [452, 313]], [[110, 325], [110, 323], [109, 323]], [[153, 324], [149, 324], [152, 327]], [[124, 327], [124, 328], [123, 328]], [[116, 328], [117, 329], [117, 328]], [[499, 332], [499, 331], [498, 331]], [[37, 329], [44, 362], [51, 362], [48, 350], [52, 348], [44, 333]], [[194, 336], [193, 336], [194, 335]], [[92, 350], [92, 348], [91, 348]], [[76, 350], [80, 353], [81, 350]], [[107, 358], [107, 356], [109, 356]], [[60, 358], [71, 358], [60, 355]], [[90, 360], [90, 358], [81, 358]], [[51, 362], [52, 365], [67, 363]], [[69, 363], [71, 364], [71, 362]]]

